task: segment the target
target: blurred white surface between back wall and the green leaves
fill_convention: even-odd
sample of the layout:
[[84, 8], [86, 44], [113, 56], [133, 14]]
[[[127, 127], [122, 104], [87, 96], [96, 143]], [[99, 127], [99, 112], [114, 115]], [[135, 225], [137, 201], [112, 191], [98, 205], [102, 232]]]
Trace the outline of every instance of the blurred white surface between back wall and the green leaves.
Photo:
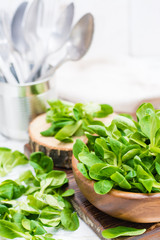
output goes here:
[[[62, 69], [63, 68], [63, 69]], [[59, 97], [108, 103], [133, 112], [143, 99], [160, 97], [160, 60], [117, 57], [66, 63], [56, 75]]]

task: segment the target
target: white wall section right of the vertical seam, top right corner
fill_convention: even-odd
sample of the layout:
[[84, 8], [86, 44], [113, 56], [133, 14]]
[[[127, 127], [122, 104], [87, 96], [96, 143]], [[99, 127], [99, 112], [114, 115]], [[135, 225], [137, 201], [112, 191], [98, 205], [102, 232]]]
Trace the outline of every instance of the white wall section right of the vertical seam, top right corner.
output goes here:
[[134, 56], [160, 56], [160, 1], [131, 0], [129, 50]]

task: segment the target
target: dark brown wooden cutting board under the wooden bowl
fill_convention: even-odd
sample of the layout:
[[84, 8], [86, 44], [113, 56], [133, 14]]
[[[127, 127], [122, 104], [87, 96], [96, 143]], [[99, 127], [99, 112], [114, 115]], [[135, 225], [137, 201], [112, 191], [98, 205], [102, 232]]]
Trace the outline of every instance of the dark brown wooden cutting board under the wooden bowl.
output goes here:
[[[24, 147], [25, 154], [29, 157], [31, 150], [28, 144]], [[135, 228], [146, 228], [147, 231], [137, 237], [119, 237], [117, 240], [160, 240], [160, 223], [131, 223], [123, 220], [119, 220], [96, 209], [80, 192], [72, 173], [72, 170], [64, 170], [69, 178], [69, 188], [75, 190], [75, 195], [72, 197], [71, 202], [77, 211], [78, 215], [84, 222], [90, 226], [93, 231], [99, 236], [101, 240], [105, 240], [101, 232], [107, 228], [116, 226], [127, 226]], [[91, 239], [88, 239], [91, 240]]]

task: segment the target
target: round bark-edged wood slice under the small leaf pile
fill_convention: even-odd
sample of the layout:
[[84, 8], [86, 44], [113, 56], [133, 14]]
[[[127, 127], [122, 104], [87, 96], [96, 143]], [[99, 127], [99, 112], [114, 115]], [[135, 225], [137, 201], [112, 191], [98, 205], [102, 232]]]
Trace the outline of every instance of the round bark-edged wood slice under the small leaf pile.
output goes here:
[[[101, 118], [106, 125], [116, 114]], [[98, 119], [100, 120], [100, 119]], [[55, 167], [72, 168], [72, 149], [77, 138], [87, 142], [86, 136], [73, 137], [73, 143], [63, 143], [54, 137], [44, 137], [40, 132], [47, 130], [51, 123], [46, 123], [46, 114], [36, 117], [29, 125], [30, 147], [32, 152], [41, 151], [53, 159]]]

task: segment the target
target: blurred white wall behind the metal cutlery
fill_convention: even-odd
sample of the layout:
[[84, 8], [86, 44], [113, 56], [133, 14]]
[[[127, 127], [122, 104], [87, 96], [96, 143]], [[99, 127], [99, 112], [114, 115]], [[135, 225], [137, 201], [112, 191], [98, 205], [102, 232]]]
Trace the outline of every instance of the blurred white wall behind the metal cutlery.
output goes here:
[[[53, 0], [58, 3], [71, 0]], [[22, 0], [1, 0], [13, 12]], [[95, 17], [95, 35], [88, 58], [117, 55], [160, 56], [160, 0], [73, 0], [75, 19]]]

